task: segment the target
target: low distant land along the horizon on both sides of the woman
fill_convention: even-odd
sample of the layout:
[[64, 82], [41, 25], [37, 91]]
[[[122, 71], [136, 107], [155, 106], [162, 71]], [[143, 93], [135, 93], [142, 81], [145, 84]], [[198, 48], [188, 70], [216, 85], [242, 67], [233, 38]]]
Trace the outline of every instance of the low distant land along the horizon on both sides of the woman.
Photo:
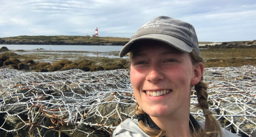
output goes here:
[[[17, 45], [125, 45], [130, 38], [91, 36], [14, 36], [0, 38], [0, 44]], [[254, 41], [206, 42], [199, 41], [200, 48], [250, 48]]]

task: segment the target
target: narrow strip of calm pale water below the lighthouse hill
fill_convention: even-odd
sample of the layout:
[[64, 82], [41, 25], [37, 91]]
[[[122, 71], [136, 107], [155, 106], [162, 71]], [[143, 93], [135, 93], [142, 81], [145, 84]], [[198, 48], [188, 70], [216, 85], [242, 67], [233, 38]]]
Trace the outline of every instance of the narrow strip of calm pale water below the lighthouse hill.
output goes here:
[[0, 45], [7, 47], [9, 50], [43, 50], [52, 51], [120, 51], [123, 46], [100, 46], [100, 45]]

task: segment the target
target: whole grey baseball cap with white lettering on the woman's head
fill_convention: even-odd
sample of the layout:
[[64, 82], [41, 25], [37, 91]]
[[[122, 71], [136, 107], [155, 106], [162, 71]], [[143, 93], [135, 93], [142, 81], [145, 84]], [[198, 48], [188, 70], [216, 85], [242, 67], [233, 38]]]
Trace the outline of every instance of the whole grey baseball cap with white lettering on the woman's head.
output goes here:
[[124, 45], [119, 57], [131, 51], [132, 45], [139, 40], [156, 40], [166, 43], [182, 52], [195, 51], [200, 56], [197, 34], [194, 27], [187, 22], [182, 22], [168, 16], [159, 16], [141, 26], [130, 41]]

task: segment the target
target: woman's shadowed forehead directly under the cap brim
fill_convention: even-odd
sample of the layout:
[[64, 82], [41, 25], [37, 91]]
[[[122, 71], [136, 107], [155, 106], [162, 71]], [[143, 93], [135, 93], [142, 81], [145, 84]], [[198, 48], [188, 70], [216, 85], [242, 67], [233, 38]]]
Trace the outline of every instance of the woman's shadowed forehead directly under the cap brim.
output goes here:
[[147, 52], [167, 52], [181, 54], [180, 50], [175, 49], [171, 45], [159, 41], [137, 41], [131, 49], [131, 55], [147, 54]]

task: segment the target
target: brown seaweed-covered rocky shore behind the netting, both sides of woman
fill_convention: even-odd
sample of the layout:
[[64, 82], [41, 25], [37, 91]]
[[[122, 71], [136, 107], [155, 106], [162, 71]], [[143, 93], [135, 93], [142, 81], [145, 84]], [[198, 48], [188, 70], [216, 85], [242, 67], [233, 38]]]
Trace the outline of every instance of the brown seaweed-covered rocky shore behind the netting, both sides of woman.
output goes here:
[[[201, 56], [204, 59], [205, 67], [241, 67], [243, 65], [256, 66], [256, 48], [253, 48], [253, 46], [254, 45], [244, 46], [245, 48], [230, 49], [201, 49]], [[249, 47], [250, 49], [248, 49]], [[7, 67], [22, 71], [35, 72], [53, 72], [75, 68], [83, 71], [129, 69], [129, 61], [124, 58], [83, 56], [84, 54], [87, 54], [86, 51], [73, 51], [73, 55], [70, 55], [71, 53], [68, 51], [62, 52], [61, 54], [58, 54], [58, 51], [39, 51], [28, 54], [17, 54], [15, 52], [22, 53], [26, 51], [9, 50], [7, 47], [1, 47], [0, 68]], [[99, 54], [106, 54], [106, 52]], [[113, 51], [107, 54], [118, 56], [119, 52]]]

